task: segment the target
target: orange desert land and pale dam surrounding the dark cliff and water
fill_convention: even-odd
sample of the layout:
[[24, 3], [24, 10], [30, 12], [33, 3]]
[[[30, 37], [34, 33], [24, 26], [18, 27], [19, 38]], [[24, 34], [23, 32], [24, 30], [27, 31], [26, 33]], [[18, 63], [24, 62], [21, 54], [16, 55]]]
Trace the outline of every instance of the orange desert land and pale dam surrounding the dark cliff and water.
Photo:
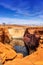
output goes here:
[[[24, 57], [22, 53], [16, 52], [14, 46], [25, 46], [23, 35], [26, 28], [31, 34], [37, 31], [40, 41], [37, 50]], [[0, 65], [22, 64], [43, 65], [43, 26], [0, 25]]]

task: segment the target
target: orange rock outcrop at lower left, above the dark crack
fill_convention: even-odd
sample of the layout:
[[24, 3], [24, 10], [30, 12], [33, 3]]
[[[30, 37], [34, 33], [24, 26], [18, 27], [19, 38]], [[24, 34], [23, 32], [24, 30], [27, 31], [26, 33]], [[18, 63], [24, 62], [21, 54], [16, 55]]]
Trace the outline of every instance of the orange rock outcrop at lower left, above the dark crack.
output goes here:
[[8, 45], [0, 43], [0, 59], [2, 63], [5, 62], [5, 60], [15, 58], [16, 55], [16, 52], [12, 50]]

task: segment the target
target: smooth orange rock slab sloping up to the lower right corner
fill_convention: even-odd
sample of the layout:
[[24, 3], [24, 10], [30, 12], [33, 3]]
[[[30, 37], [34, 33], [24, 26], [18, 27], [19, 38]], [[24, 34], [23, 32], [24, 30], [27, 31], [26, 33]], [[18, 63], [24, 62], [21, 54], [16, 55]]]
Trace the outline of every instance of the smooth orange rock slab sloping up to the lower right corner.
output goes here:
[[19, 57], [15, 58], [4, 65], [43, 65], [43, 44], [33, 54], [22, 59]]

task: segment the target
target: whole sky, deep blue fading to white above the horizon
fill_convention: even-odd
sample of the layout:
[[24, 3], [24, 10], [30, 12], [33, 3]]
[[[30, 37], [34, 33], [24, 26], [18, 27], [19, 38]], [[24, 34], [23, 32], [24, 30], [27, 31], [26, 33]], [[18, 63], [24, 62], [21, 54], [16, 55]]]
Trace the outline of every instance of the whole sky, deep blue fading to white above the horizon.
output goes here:
[[0, 0], [0, 23], [43, 25], [43, 0]]

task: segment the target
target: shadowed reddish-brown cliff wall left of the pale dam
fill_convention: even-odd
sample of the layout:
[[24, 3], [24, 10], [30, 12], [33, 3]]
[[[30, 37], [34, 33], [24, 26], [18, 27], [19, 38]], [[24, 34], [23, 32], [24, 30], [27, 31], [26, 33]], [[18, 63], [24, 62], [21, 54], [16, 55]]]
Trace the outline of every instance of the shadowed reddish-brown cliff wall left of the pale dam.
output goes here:
[[10, 34], [7, 28], [0, 28], [0, 42], [10, 43]]

